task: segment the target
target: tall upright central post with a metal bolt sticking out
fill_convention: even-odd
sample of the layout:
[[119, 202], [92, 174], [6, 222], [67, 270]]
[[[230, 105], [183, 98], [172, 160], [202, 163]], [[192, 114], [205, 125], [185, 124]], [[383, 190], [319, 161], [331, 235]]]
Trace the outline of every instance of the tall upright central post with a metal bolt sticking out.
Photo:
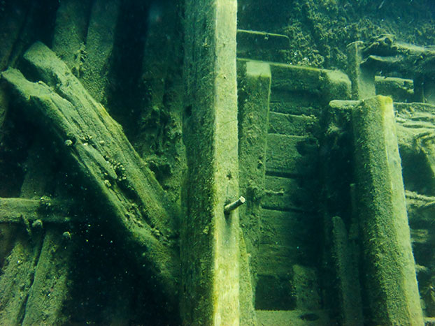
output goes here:
[[185, 144], [182, 314], [186, 325], [238, 325], [236, 0], [185, 3]]

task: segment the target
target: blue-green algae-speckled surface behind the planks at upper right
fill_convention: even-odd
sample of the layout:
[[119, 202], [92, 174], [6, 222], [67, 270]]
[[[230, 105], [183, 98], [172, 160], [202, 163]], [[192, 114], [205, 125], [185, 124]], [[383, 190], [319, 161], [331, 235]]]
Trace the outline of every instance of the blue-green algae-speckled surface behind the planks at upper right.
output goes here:
[[390, 33], [418, 45], [435, 44], [431, 0], [238, 1], [239, 28], [290, 38], [287, 62], [322, 68], [346, 66], [345, 46]]

